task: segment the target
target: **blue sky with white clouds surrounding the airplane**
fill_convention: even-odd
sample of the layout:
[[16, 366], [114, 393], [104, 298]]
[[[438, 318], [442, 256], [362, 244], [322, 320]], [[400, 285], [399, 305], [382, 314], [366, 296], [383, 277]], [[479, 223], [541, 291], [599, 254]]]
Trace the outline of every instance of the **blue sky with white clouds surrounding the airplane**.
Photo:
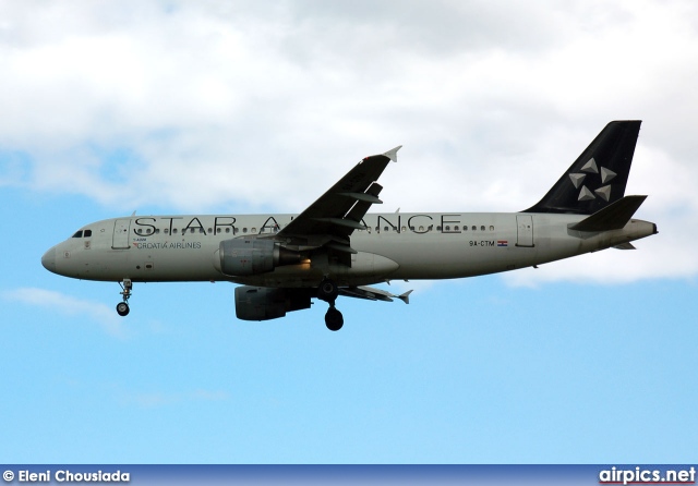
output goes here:
[[[0, 2], [2, 462], [695, 461], [693, 2], [122, 3]], [[300, 211], [398, 144], [386, 211], [524, 209], [612, 119], [645, 121], [658, 235], [395, 282], [339, 332], [322, 303], [238, 321], [220, 282], [119, 318], [40, 265], [133, 210]]]

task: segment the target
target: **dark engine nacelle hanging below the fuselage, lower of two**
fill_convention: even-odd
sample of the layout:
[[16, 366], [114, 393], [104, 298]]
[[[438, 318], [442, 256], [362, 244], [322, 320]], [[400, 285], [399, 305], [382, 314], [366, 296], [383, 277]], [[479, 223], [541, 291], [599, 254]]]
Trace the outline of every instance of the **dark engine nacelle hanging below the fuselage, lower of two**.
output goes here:
[[236, 316], [242, 320], [268, 320], [287, 312], [310, 308], [310, 289], [236, 288]]

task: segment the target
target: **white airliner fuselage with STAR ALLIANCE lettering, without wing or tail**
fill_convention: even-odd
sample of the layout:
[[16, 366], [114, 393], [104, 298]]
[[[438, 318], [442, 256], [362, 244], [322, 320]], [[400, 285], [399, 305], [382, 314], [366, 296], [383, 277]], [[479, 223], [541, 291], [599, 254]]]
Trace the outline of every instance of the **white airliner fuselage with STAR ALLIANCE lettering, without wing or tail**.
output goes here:
[[[494, 274], [622, 245], [653, 234], [651, 222], [582, 233], [585, 216], [527, 212], [369, 214], [351, 235], [351, 267], [308, 257], [273, 271], [237, 277], [220, 271], [220, 242], [269, 236], [293, 215], [133, 216], [83, 227], [50, 248], [44, 265], [79, 279], [134, 282], [233, 281], [261, 287], [339, 285], [392, 279], [450, 279]], [[311, 255], [311, 253], [309, 253]]]

